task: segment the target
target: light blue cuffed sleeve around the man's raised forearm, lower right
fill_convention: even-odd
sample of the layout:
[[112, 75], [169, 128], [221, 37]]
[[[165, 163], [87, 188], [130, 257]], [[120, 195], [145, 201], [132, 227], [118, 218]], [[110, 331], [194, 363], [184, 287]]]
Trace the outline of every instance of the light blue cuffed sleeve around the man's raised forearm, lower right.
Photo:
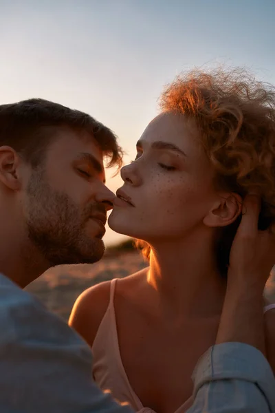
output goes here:
[[275, 379], [267, 359], [244, 343], [212, 346], [197, 363], [186, 413], [275, 412]]

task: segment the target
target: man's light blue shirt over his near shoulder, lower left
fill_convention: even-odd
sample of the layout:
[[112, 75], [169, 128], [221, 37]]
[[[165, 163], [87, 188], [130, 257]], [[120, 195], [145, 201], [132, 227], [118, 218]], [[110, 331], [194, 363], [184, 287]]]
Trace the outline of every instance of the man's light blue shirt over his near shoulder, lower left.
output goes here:
[[94, 383], [91, 350], [65, 321], [1, 281], [0, 412], [133, 413]]

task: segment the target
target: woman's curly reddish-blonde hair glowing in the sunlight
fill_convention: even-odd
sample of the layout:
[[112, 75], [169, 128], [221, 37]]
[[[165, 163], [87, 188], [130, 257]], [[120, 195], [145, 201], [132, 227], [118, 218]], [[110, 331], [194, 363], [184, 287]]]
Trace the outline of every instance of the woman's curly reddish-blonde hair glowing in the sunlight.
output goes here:
[[[275, 88], [242, 68], [192, 70], [166, 86], [162, 112], [195, 120], [219, 187], [261, 194], [259, 229], [275, 220]], [[225, 227], [217, 244], [222, 274], [227, 273], [232, 240], [241, 217]], [[150, 247], [137, 240], [148, 258]]]

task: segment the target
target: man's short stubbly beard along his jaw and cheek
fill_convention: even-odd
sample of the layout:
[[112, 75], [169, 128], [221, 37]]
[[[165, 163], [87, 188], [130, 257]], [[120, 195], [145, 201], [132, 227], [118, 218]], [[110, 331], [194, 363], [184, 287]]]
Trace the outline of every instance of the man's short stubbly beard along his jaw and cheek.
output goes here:
[[65, 193], [50, 187], [43, 171], [32, 173], [25, 211], [28, 237], [50, 266], [100, 260], [103, 241], [85, 233], [89, 217], [96, 211], [105, 213], [104, 207], [95, 203], [80, 212]]

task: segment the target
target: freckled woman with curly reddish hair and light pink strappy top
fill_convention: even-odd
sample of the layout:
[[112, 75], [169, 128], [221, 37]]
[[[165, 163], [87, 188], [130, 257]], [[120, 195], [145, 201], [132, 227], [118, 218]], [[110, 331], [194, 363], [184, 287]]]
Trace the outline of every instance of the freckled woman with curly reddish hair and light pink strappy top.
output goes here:
[[216, 341], [244, 195], [261, 194], [260, 229], [275, 218], [275, 95], [241, 70], [195, 70], [160, 102], [109, 218], [146, 242], [149, 267], [88, 290], [70, 324], [92, 347], [101, 388], [172, 413], [190, 407], [192, 371]]

